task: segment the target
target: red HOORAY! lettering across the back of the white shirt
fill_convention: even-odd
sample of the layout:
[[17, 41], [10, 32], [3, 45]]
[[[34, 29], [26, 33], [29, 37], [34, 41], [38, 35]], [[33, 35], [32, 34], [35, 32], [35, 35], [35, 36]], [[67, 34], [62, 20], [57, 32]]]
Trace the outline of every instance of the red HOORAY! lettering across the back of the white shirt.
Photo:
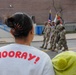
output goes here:
[[0, 52], [0, 58], [20, 58], [20, 59], [27, 59], [28, 61], [31, 61], [31, 60], [35, 60], [34, 61], [34, 64], [36, 64], [39, 60], [40, 60], [40, 57], [37, 57], [36, 55], [33, 55], [31, 53], [27, 53], [27, 52], [21, 52], [21, 51], [3, 51], [3, 52]]

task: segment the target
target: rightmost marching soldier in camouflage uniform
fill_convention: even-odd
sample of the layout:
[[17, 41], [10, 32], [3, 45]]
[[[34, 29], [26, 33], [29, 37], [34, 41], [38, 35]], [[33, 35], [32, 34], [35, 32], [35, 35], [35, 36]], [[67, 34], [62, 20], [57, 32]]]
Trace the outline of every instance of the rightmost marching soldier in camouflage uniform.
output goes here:
[[65, 35], [66, 35], [66, 30], [65, 30], [65, 27], [62, 26], [60, 28], [60, 32], [59, 32], [60, 39], [58, 41], [57, 50], [61, 50], [62, 47], [64, 47], [63, 51], [68, 50], [68, 46], [67, 46], [67, 41], [66, 41], [66, 36]]

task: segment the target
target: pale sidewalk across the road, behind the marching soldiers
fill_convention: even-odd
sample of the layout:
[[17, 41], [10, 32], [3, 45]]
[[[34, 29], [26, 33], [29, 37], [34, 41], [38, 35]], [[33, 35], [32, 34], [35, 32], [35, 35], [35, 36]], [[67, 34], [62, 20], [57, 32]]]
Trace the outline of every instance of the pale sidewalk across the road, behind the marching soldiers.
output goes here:
[[[71, 34], [66, 34], [66, 39], [71, 40], [71, 39], [76, 39], [76, 33], [71, 33]], [[38, 42], [38, 41], [43, 41], [43, 35], [35, 35], [33, 42]], [[9, 38], [0, 38], [0, 43], [13, 43], [14, 38], [9, 37]]]

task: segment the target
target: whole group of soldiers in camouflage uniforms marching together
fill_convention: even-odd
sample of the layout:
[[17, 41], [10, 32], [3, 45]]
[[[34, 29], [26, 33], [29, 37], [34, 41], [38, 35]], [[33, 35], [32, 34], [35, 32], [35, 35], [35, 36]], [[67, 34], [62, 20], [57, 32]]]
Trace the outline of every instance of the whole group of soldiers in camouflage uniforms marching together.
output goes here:
[[66, 41], [66, 30], [60, 20], [55, 22], [45, 22], [45, 27], [43, 30], [44, 40], [41, 48], [47, 49], [50, 43], [50, 48], [48, 50], [58, 51], [58, 50], [68, 50]]

